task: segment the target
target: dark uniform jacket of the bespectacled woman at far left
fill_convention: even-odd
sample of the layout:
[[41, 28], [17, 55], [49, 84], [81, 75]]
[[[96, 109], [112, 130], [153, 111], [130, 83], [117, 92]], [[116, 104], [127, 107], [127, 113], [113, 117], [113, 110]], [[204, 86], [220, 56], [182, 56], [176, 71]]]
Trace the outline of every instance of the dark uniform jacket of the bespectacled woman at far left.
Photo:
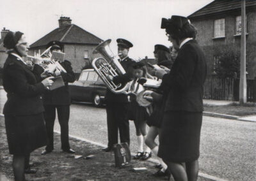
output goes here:
[[7, 92], [4, 115], [33, 115], [44, 112], [41, 94], [45, 87], [33, 71], [14, 55], [8, 55], [3, 68], [3, 87]]

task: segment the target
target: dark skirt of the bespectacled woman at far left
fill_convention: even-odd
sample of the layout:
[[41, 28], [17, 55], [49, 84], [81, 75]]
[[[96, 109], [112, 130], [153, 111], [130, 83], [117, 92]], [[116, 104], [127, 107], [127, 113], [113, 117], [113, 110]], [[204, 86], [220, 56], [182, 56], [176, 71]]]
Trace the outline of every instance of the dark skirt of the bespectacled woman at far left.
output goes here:
[[24, 156], [47, 143], [43, 113], [36, 115], [4, 115], [10, 154]]

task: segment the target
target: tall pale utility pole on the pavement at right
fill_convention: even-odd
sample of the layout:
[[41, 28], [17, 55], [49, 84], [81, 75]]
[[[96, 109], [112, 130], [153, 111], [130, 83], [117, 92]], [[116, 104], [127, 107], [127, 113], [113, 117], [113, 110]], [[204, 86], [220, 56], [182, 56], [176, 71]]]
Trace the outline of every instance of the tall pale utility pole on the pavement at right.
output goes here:
[[245, 0], [241, 0], [241, 62], [239, 82], [239, 103], [246, 103], [246, 29], [245, 29]]

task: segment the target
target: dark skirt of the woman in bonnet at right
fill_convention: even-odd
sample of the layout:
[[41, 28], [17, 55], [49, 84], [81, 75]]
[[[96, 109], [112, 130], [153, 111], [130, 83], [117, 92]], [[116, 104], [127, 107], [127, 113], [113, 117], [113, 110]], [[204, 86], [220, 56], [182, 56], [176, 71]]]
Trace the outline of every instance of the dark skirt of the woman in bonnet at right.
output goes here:
[[164, 112], [158, 156], [182, 163], [199, 157], [202, 112]]

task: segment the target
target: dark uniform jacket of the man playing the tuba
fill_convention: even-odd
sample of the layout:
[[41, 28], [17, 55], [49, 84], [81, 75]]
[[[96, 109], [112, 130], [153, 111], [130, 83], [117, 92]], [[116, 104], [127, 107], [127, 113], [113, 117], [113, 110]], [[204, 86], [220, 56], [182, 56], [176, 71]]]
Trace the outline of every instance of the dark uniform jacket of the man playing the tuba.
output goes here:
[[[132, 73], [133, 73], [133, 64], [135, 61], [130, 59], [129, 57], [125, 58], [120, 62], [122, 67], [125, 69], [126, 73], [124, 75], [115, 76], [113, 82], [115, 83], [127, 83], [132, 80]], [[125, 94], [115, 94], [107, 89], [106, 92], [106, 101], [111, 102], [119, 102], [119, 103], [128, 103], [127, 95]]]

